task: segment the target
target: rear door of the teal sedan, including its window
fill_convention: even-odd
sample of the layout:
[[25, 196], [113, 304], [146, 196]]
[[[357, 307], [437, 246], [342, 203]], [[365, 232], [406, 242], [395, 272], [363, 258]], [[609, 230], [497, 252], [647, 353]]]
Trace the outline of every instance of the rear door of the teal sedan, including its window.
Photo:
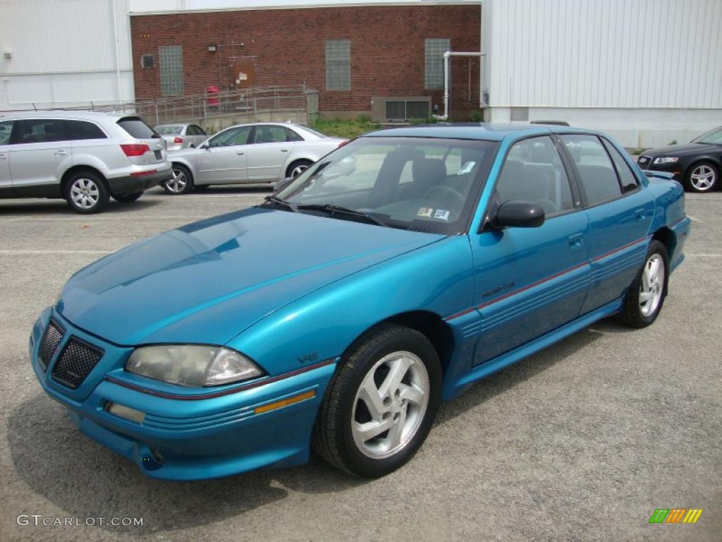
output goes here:
[[603, 137], [560, 134], [589, 217], [591, 288], [583, 312], [622, 296], [642, 266], [654, 202], [628, 159]]

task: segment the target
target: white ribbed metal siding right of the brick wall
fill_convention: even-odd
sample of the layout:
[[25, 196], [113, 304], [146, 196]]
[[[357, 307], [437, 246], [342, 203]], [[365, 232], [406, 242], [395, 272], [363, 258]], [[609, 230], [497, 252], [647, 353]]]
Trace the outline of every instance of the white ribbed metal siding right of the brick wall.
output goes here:
[[490, 106], [722, 107], [720, 0], [487, 0], [483, 9]]

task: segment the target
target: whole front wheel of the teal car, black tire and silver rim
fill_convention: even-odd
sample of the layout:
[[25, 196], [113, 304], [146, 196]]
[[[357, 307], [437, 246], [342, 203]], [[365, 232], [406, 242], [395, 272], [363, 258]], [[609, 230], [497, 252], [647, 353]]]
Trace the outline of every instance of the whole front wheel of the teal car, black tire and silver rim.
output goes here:
[[347, 473], [385, 476], [421, 447], [440, 392], [440, 361], [429, 340], [409, 327], [381, 324], [342, 357], [321, 403], [313, 449]]

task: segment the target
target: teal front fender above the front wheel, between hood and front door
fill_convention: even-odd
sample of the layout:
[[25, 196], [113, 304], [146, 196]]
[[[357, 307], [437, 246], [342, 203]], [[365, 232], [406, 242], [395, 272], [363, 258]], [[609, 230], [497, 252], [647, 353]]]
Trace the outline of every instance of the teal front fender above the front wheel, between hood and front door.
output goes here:
[[447, 237], [310, 292], [227, 345], [280, 374], [340, 356], [365, 330], [396, 314], [452, 314], [472, 304], [473, 289], [469, 238]]

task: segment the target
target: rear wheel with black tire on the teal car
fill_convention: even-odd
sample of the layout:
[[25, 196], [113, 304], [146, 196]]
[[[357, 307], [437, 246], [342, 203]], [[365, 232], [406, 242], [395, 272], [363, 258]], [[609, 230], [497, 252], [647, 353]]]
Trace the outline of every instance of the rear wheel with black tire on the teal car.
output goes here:
[[630, 327], [647, 327], [658, 317], [667, 295], [669, 255], [660, 241], [652, 239], [644, 265], [632, 281], [619, 321]]

